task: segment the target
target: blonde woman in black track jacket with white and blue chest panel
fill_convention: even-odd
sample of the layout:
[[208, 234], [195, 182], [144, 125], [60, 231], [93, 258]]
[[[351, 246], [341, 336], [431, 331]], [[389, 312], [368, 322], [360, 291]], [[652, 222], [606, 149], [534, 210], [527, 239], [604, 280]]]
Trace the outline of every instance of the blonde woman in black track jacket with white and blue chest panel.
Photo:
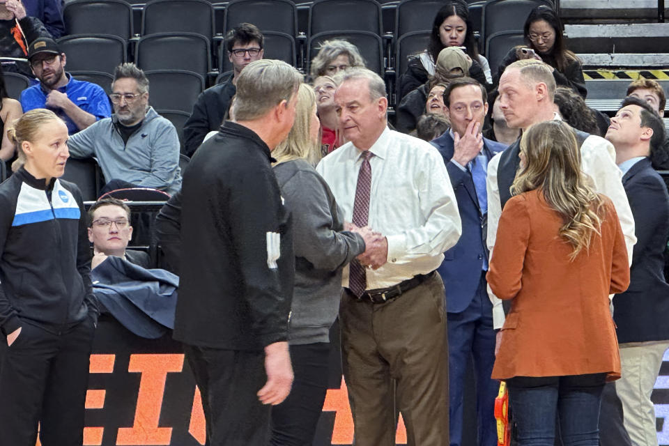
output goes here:
[[68, 128], [34, 109], [8, 131], [15, 174], [0, 185], [0, 444], [81, 446], [98, 306], [86, 213], [59, 180]]

